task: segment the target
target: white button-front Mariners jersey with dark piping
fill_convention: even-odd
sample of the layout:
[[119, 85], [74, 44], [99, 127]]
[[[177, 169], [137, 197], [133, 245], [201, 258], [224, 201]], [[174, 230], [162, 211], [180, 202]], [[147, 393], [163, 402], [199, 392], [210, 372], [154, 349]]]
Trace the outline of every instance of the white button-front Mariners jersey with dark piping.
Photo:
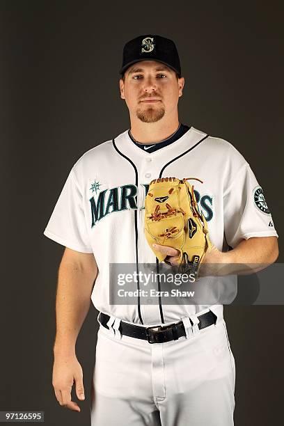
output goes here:
[[[91, 299], [97, 310], [136, 324], [164, 323], [206, 305], [109, 304], [109, 265], [155, 264], [144, 235], [144, 202], [155, 178], [195, 177], [198, 207], [221, 251], [242, 239], [276, 236], [263, 191], [244, 157], [228, 142], [191, 127], [155, 152], [138, 148], [128, 130], [88, 150], [72, 166], [44, 235], [75, 251], [93, 253], [98, 275]], [[221, 305], [210, 306], [214, 311]]]

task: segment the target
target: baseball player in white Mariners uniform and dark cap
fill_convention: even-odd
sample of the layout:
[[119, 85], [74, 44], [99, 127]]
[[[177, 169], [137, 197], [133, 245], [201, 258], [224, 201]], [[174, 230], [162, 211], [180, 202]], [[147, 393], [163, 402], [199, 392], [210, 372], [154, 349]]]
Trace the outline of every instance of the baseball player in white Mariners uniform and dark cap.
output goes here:
[[[120, 75], [129, 129], [76, 161], [44, 231], [65, 246], [56, 294], [56, 398], [80, 411], [71, 400], [73, 384], [84, 400], [75, 343], [91, 299], [100, 312], [93, 426], [231, 426], [235, 360], [223, 305], [141, 303], [138, 291], [132, 303], [111, 303], [110, 265], [136, 265], [137, 273], [142, 265], [159, 268], [144, 234], [145, 196], [155, 178], [203, 181], [194, 191], [213, 244], [205, 265], [269, 265], [278, 257], [278, 235], [244, 157], [228, 141], [180, 123], [184, 77], [175, 43], [153, 35], [130, 40]], [[156, 248], [175, 264], [175, 248]], [[132, 290], [141, 290], [139, 279]]]

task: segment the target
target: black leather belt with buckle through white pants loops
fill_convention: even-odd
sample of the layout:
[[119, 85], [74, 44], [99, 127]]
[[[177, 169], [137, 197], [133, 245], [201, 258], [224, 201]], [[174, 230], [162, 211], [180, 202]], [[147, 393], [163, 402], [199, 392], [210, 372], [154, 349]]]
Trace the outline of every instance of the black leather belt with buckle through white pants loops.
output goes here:
[[[216, 318], [216, 315], [212, 313], [211, 310], [203, 315], [199, 315], [198, 328], [205, 329], [205, 327], [215, 324]], [[100, 313], [99, 321], [106, 329], [109, 329], [109, 327], [107, 326], [109, 319], [109, 315], [104, 314], [102, 312]], [[128, 324], [127, 322], [120, 321], [120, 326], [118, 327], [118, 330], [124, 336], [148, 340], [149, 343], [170, 342], [171, 340], [178, 340], [178, 338], [186, 336], [184, 324], [182, 321], [168, 326], [152, 327], [136, 326], [135, 324]]]

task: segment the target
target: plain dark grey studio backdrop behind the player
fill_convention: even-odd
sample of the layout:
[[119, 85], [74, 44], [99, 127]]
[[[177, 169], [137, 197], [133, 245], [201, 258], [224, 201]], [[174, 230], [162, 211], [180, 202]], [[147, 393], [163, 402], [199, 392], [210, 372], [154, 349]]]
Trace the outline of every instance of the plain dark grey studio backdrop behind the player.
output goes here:
[[[97, 313], [90, 308], [77, 341], [87, 397], [75, 413], [59, 406], [52, 388], [64, 248], [42, 232], [74, 162], [129, 127], [118, 69], [130, 38], [175, 40], [186, 79], [182, 123], [242, 152], [283, 235], [281, 3], [196, 3], [0, 2], [0, 410], [45, 411], [46, 425], [89, 425]], [[235, 424], [281, 421], [283, 307], [226, 306], [225, 315], [237, 370]]]

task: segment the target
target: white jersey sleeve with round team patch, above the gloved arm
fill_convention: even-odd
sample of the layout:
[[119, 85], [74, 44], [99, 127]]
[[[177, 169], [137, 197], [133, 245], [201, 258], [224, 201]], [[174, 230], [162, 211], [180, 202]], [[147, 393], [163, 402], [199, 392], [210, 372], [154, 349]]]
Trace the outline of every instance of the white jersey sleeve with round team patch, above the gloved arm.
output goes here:
[[223, 194], [226, 242], [235, 248], [242, 239], [278, 237], [262, 187], [246, 162]]

